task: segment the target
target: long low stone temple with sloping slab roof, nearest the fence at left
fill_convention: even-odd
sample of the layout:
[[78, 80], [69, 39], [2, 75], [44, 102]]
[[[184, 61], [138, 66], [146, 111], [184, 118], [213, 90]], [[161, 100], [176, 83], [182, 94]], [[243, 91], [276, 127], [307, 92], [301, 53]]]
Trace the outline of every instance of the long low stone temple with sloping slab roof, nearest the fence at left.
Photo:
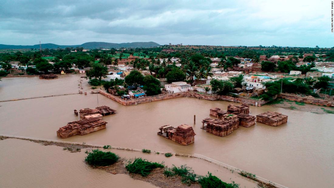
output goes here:
[[81, 119], [79, 121], [69, 122], [66, 126], [59, 128], [57, 136], [67, 138], [73, 135], [86, 135], [88, 133], [106, 128], [107, 122], [99, 118]]

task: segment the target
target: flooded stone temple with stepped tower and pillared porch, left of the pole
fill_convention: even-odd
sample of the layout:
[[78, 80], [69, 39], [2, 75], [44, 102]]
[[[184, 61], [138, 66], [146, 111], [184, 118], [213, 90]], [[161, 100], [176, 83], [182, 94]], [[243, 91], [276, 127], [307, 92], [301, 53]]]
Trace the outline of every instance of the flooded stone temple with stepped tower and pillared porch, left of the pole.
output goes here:
[[189, 125], [183, 124], [177, 128], [165, 125], [159, 128], [158, 135], [170, 139], [184, 146], [195, 142], [195, 132]]

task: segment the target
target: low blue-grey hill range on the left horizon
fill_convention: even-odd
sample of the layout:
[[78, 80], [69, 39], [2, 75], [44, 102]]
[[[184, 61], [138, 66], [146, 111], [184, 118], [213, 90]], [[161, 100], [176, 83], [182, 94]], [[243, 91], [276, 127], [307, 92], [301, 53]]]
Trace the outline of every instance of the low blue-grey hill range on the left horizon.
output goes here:
[[[66, 48], [66, 47], [83, 47], [85, 49], [96, 49], [96, 48], [149, 48], [149, 47], [157, 47], [160, 44], [155, 42], [128, 42], [128, 43], [109, 43], [109, 42], [86, 42], [81, 45], [57, 45], [52, 43], [41, 44], [42, 48]], [[39, 44], [35, 45], [6, 45], [0, 44], [0, 49], [27, 49], [27, 48], [34, 48], [39, 49]]]

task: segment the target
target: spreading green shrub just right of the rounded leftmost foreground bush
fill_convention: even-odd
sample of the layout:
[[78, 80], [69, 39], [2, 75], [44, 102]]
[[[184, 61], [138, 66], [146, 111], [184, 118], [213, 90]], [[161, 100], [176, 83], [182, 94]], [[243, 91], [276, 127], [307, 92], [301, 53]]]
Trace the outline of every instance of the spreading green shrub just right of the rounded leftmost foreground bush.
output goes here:
[[147, 176], [155, 168], [164, 168], [163, 164], [152, 163], [146, 159], [136, 158], [134, 161], [131, 159], [129, 163], [125, 166], [127, 171], [133, 174], [140, 174], [141, 176]]

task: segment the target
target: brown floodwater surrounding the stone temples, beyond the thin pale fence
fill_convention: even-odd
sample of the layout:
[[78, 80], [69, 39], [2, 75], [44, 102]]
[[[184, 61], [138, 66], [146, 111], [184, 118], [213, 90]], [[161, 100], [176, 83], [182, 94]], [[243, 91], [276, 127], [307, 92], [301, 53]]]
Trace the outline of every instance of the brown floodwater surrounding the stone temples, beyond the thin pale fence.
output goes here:
[[[80, 75], [59, 76], [55, 80], [41, 80], [38, 77], [4, 78], [0, 82], [0, 101], [76, 92], [79, 78]], [[84, 80], [83, 88], [89, 91], [87, 80]], [[251, 106], [251, 115], [276, 111], [288, 115], [288, 123], [278, 127], [261, 123], [249, 128], [239, 127], [226, 137], [218, 137], [200, 129], [201, 120], [209, 117], [210, 108], [226, 109], [228, 104], [231, 103], [176, 98], [126, 107], [98, 94], [3, 102], [0, 103], [0, 134], [196, 153], [287, 187], [334, 187], [333, 114], [316, 114], [269, 105]], [[59, 127], [78, 120], [73, 114], [74, 109], [102, 105], [117, 110], [115, 115], [103, 117], [108, 122], [106, 129], [67, 139], [56, 137]], [[158, 128], [167, 124], [174, 127], [181, 124], [193, 126], [195, 143], [182, 146], [158, 136]]]

